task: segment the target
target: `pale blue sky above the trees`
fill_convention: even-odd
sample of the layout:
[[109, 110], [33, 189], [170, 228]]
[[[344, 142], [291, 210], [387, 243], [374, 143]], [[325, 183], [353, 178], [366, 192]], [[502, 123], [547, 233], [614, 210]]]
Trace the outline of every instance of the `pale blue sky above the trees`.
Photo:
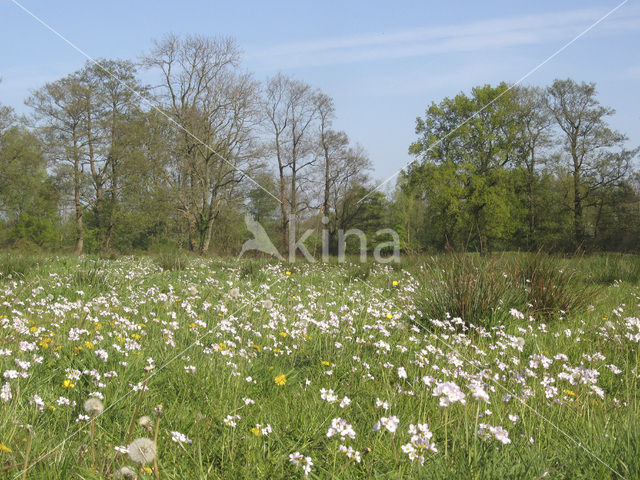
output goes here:
[[[167, 32], [232, 36], [259, 80], [282, 71], [331, 95], [336, 126], [365, 147], [380, 180], [411, 160], [415, 118], [432, 101], [519, 80], [620, 4], [18, 1], [94, 58], [136, 59]], [[0, 103], [19, 112], [31, 90], [85, 63], [10, 0], [0, 0], [0, 26]], [[524, 84], [596, 82], [617, 111], [611, 124], [640, 145], [639, 47], [640, 5], [630, 0]]]

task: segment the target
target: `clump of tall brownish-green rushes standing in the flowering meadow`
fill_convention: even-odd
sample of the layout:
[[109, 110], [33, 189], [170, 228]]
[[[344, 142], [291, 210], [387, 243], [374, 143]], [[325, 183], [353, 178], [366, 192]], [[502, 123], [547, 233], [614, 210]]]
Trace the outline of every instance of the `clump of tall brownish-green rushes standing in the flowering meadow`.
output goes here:
[[598, 291], [560, 258], [544, 253], [481, 257], [454, 253], [423, 266], [421, 310], [465, 322], [495, 323], [515, 308], [550, 320], [586, 306]]

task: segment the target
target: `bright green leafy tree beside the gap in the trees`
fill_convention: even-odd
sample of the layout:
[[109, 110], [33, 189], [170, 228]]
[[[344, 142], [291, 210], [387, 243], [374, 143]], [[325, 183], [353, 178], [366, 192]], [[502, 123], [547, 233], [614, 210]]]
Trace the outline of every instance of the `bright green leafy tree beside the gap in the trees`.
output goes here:
[[419, 163], [409, 169], [408, 185], [427, 202], [440, 245], [455, 239], [483, 252], [515, 230], [507, 172], [517, 159], [515, 116], [503, 83], [433, 103], [417, 119], [420, 138], [410, 152]]

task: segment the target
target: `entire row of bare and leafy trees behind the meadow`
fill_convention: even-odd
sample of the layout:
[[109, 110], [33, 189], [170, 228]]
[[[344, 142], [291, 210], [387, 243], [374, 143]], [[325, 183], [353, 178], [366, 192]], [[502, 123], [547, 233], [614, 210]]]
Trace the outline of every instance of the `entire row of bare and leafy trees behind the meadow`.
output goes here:
[[0, 106], [4, 247], [235, 254], [247, 213], [283, 253], [302, 228], [334, 253], [340, 230], [389, 227], [407, 252], [639, 246], [638, 150], [593, 84], [487, 85], [433, 103], [386, 193], [334, 128], [331, 97], [283, 74], [256, 81], [229, 38], [167, 35], [135, 63], [88, 62], [25, 103], [26, 116]]

